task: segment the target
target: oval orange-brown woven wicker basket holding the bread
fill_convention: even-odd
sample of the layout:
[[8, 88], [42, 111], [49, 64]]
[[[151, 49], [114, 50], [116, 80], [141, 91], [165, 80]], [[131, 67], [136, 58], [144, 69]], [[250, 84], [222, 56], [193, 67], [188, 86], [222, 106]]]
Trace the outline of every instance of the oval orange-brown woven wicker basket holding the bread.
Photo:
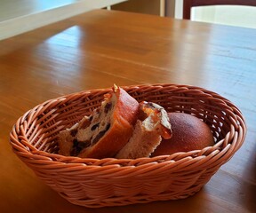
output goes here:
[[202, 88], [175, 84], [123, 87], [135, 99], [168, 112], [193, 114], [212, 130], [215, 145], [153, 158], [88, 159], [58, 154], [58, 132], [91, 114], [110, 89], [80, 91], [45, 101], [13, 126], [12, 149], [46, 185], [85, 207], [120, 206], [186, 198], [198, 192], [242, 146], [244, 117], [228, 99]]

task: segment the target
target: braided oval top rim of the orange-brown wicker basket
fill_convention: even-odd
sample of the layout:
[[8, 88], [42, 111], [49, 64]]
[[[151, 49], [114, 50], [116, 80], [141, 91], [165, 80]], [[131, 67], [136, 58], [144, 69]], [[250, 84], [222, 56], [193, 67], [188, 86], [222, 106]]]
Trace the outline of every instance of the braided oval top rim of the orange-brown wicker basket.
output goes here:
[[[184, 90], [184, 91], [196, 91], [196, 92], [202, 92], [204, 94], [209, 94], [212, 96], [212, 99], [220, 99], [223, 101], [223, 103], [225, 102], [225, 104], [228, 104], [232, 107], [234, 107], [234, 110], [236, 111], [237, 116], [240, 117], [241, 119], [241, 125], [242, 125], [242, 132], [244, 133], [243, 139], [240, 139], [240, 143], [242, 146], [243, 142], [244, 142], [244, 137], [246, 134], [246, 124], [244, 122], [244, 115], [242, 114], [242, 112], [240, 111], [240, 109], [238, 109], [238, 107], [236, 107], [233, 103], [231, 103], [228, 99], [220, 96], [220, 94], [213, 92], [213, 91], [209, 91], [206, 90], [202, 87], [198, 87], [198, 86], [193, 86], [193, 85], [186, 85], [186, 84], [174, 84], [174, 83], [144, 83], [144, 84], [135, 84], [135, 85], [129, 85], [129, 86], [121, 86], [125, 91], [133, 91], [133, 90], [140, 90], [141, 88], [155, 88], [155, 89], [161, 89], [161, 88], [166, 88], [166, 87], [172, 87], [172, 88], [176, 88], [177, 90]], [[25, 114], [23, 114], [22, 116], [20, 116], [20, 118], [18, 119], [18, 121], [20, 120], [24, 120], [26, 116], [28, 116], [28, 114], [30, 114], [34, 109], [38, 108], [38, 107], [44, 107], [47, 106], [48, 104], [52, 103], [52, 102], [58, 102], [58, 101], [64, 101], [65, 99], [68, 99], [69, 96], [79, 96], [79, 95], [85, 95], [85, 94], [91, 94], [94, 92], [99, 92], [99, 93], [107, 93], [108, 91], [111, 91], [111, 88], [104, 88], [104, 89], [91, 89], [91, 90], [86, 90], [86, 91], [77, 91], [77, 92], [73, 92], [73, 93], [69, 93], [63, 96], [60, 96], [58, 98], [55, 99], [48, 99], [46, 101], [44, 101], [41, 104], [38, 104], [37, 106], [35, 106], [34, 108], [28, 110]], [[16, 130], [17, 130], [17, 122], [13, 125], [12, 127], [12, 131], [10, 132], [10, 143], [12, 148], [14, 149], [15, 146], [17, 148], [17, 146], [20, 146], [20, 141], [17, 139], [19, 137], [17, 137], [16, 134]], [[241, 134], [241, 132], [240, 132]], [[23, 138], [24, 139], [24, 138]], [[218, 141], [219, 142], [219, 141]], [[44, 159], [45, 162], [54, 162], [54, 163], [58, 163], [58, 164], [81, 164], [84, 165], [86, 164], [86, 166], [93, 166], [93, 167], [101, 167], [102, 165], [115, 165], [115, 164], [119, 164], [122, 163], [125, 165], [127, 165], [127, 167], [132, 167], [134, 165], [142, 165], [143, 163], [141, 162], [145, 162], [145, 163], [162, 163], [162, 162], [179, 162], [180, 160], [184, 159], [184, 158], [189, 158], [192, 159], [199, 159], [202, 158], [202, 156], [205, 156], [204, 154], [202, 156], [197, 156], [198, 153], [202, 152], [202, 150], [194, 150], [194, 151], [190, 151], [190, 152], [180, 152], [180, 153], [175, 153], [175, 154], [170, 154], [170, 155], [159, 155], [156, 157], [148, 157], [148, 158], [137, 158], [137, 159], [116, 159], [116, 158], [104, 158], [104, 159], [94, 159], [94, 158], [80, 158], [80, 157], [76, 157], [76, 156], [63, 156], [61, 154], [51, 154], [51, 153], [47, 153], [45, 151], [40, 151], [38, 149], [36, 149], [36, 147], [30, 145], [30, 149], [28, 150], [28, 148], [25, 147], [24, 144], [22, 144], [23, 149], [22, 151], [19, 151], [20, 153], [24, 154], [24, 155], [31, 155], [31, 156], [38, 156], [40, 157], [42, 160]], [[29, 144], [26, 144], [26, 146], [29, 146]], [[232, 145], [230, 145], [232, 146]], [[236, 150], [240, 147], [238, 146], [236, 148]], [[20, 148], [20, 147], [19, 147]], [[209, 147], [205, 147], [204, 149], [206, 150], [205, 152], [207, 153], [207, 148]], [[221, 150], [220, 150], [221, 152]], [[209, 152], [208, 152], [209, 153]], [[22, 155], [21, 154], [21, 155]], [[179, 157], [178, 160], [176, 159], [176, 156], [183, 156], [183, 157]], [[195, 157], [193, 157], [193, 155], [195, 155]], [[108, 163], [106, 163], [108, 162]], [[138, 163], [137, 163], [138, 162]]]

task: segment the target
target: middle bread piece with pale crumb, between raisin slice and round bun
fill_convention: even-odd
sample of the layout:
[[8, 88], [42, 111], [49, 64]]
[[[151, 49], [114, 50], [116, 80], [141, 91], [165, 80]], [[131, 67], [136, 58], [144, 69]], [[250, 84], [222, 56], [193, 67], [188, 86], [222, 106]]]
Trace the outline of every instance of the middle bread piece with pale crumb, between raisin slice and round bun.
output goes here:
[[140, 103], [139, 114], [132, 137], [116, 154], [116, 158], [149, 157], [160, 144], [162, 137], [172, 137], [169, 118], [162, 106], [143, 101]]

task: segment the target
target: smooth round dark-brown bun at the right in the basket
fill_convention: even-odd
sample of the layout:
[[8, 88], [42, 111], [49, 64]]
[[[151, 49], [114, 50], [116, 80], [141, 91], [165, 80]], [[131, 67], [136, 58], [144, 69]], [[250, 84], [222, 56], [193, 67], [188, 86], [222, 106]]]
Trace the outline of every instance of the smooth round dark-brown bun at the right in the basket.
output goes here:
[[212, 131], [196, 116], [183, 113], [168, 114], [172, 125], [172, 138], [163, 139], [152, 156], [201, 150], [213, 146]]

